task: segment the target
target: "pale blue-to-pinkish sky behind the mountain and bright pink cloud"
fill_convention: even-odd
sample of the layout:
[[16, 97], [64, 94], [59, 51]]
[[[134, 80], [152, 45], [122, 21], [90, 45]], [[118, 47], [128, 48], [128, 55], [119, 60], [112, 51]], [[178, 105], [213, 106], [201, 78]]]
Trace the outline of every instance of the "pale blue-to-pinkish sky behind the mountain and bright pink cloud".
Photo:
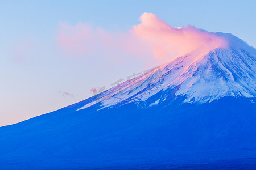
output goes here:
[[[133, 43], [130, 53], [127, 44], [113, 47], [141, 23], [144, 12], [172, 27], [233, 33], [256, 47], [255, 8], [256, 1], [0, 1], [0, 126], [84, 100], [92, 88], [112, 87], [167, 61]], [[60, 44], [63, 29], [77, 42], [72, 49]], [[86, 46], [93, 52], [81, 45], [88, 32], [93, 36]], [[101, 44], [102, 35], [113, 43]]]

